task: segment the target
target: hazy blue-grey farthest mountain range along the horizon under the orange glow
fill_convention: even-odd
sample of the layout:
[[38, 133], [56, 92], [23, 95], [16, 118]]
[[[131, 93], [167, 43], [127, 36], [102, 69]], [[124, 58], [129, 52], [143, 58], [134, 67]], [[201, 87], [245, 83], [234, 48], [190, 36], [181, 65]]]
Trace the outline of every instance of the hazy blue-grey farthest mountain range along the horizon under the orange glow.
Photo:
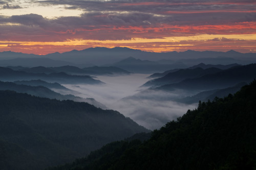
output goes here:
[[[177, 65], [181, 63], [187, 66], [199, 64], [249, 64], [256, 61], [255, 53], [239, 53], [236, 51], [228, 52], [213, 52], [213, 51], [185, 51], [185, 52], [168, 52], [168, 53], [153, 53], [134, 50], [127, 47], [94, 47], [85, 50], [73, 50], [65, 53], [52, 53], [45, 56], [22, 54], [14, 52], [0, 53], [0, 66], [64, 66], [72, 65], [80, 68], [114, 64], [129, 57], [134, 57], [140, 60], [157, 61], [159, 64]], [[18, 59], [17, 59], [18, 58]], [[51, 59], [51, 60], [50, 60]], [[50, 62], [51, 61], [51, 62]], [[57, 62], [59, 61], [59, 62]], [[176, 64], [175, 64], [176, 63]], [[168, 69], [173, 69], [169, 67]], [[166, 69], [167, 70], [167, 69]]]

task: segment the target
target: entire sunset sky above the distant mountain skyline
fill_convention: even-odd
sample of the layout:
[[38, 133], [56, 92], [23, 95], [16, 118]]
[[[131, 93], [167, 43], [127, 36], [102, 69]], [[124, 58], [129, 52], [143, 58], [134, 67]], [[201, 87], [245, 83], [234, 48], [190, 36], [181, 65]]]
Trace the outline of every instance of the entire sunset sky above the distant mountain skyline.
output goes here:
[[256, 53], [256, 1], [0, 1], [0, 52], [45, 55], [97, 46]]

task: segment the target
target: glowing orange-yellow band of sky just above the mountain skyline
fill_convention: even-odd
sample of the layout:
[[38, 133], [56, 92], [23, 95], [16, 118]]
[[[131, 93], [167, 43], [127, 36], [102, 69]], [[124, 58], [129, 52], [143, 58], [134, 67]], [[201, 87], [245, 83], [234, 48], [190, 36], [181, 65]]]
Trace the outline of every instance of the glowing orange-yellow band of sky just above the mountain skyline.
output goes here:
[[4, 42], [0, 41], [0, 51], [14, 51], [22, 53], [49, 54], [54, 52], [67, 52], [71, 50], [83, 50], [88, 47], [115, 47], [126, 46], [143, 51], [170, 52], [186, 50], [213, 50], [239, 52], [256, 52], [256, 34], [249, 35], [197, 35], [164, 37], [154, 39], [134, 38], [132, 40], [85, 40], [75, 39], [65, 42]]

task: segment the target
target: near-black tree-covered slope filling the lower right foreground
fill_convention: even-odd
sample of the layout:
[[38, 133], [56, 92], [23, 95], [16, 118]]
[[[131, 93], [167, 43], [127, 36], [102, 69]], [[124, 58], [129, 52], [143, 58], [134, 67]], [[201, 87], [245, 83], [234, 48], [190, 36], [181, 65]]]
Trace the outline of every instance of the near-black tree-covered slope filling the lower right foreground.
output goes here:
[[256, 169], [256, 81], [199, 102], [149, 140], [116, 141], [51, 169]]

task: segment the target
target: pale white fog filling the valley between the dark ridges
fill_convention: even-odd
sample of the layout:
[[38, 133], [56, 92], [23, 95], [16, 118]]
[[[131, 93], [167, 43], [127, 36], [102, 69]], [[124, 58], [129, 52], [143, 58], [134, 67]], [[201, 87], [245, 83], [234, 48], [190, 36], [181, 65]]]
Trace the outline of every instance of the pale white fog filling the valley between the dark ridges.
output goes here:
[[148, 81], [145, 74], [127, 76], [98, 76], [104, 85], [63, 84], [63, 86], [79, 92], [82, 98], [94, 98], [109, 109], [117, 110], [126, 117], [132, 118], [147, 129], [159, 129], [170, 120], [195, 109], [197, 104], [185, 105], [174, 100], [189, 95], [182, 91], [167, 93], [163, 91], [145, 90], [140, 87]]

